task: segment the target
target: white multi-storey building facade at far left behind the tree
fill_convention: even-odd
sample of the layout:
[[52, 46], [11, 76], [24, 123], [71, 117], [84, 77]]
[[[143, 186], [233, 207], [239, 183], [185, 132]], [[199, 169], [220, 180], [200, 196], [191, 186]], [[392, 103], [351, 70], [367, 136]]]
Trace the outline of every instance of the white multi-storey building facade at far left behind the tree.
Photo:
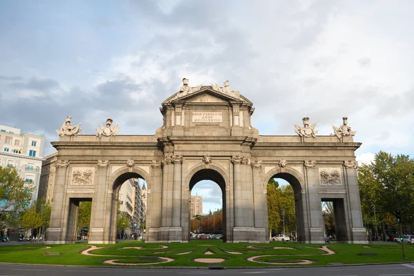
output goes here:
[[14, 167], [37, 199], [46, 137], [0, 125], [0, 166]]

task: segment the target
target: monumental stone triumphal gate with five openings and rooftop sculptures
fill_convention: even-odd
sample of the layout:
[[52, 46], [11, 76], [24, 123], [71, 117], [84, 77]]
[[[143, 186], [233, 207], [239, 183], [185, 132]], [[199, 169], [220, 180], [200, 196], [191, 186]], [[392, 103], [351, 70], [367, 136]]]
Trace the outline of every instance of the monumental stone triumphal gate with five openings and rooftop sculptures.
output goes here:
[[300, 242], [324, 242], [321, 201], [333, 201], [339, 241], [366, 242], [355, 162], [361, 144], [346, 117], [331, 136], [317, 136], [308, 118], [295, 136], [261, 136], [250, 124], [253, 103], [228, 81], [190, 87], [183, 79], [161, 106], [164, 124], [155, 135], [117, 135], [110, 119], [97, 135], [79, 135], [70, 117], [57, 130], [46, 243], [75, 242], [79, 201], [92, 201], [89, 243], [115, 243], [119, 187], [131, 177], [148, 184], [146, 242], [188, 242], [190, 192], [203, 179], [223, 193], [226, 242], [268, 242], [272, 177], [293, 186]]

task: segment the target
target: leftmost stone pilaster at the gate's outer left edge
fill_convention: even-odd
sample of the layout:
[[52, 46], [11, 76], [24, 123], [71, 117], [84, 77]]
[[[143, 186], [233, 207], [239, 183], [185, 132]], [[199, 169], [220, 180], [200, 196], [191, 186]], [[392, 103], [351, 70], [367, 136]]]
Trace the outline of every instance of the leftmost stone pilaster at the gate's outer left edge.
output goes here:
[[54, 167], [55, 187], [53, 190], [52, 211], [50, 213], [50, 226], [47, 230], [45, 244], [66, 244], [65, 233], [68, 218], [63, 217], [69, 202], [66, 200], [66, 175], [69, 174], [69, 161], [58, 160]]

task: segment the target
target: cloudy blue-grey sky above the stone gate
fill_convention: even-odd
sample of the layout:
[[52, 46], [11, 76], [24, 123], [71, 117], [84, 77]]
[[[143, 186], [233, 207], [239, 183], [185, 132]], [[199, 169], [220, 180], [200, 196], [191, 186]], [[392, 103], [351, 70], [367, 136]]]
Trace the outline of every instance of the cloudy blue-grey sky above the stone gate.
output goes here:
[[[86, 134], [112, 118], [119, 135], [153, 135], [182, 78], [228, 79], [254, 103], [261, 135], [295, 135], [302, 117], [330, 135], [347, 116], [358, 161], [413, 156], [413, 10], [404, 0], [0, 1], [0, 124], [44, 134], [46, 154], [68, 115]], [[200, 184], [204, 213], [221, 206], [217, 189]]]

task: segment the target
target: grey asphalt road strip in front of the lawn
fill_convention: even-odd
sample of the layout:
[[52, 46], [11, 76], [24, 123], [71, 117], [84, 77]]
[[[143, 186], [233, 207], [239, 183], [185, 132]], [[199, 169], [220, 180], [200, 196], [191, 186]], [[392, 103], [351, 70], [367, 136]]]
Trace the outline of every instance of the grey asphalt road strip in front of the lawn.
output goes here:
[[414, 264], [382, 264], [369, 266], [330, 266], [307, 268], [245, 268], [226, 270], [207, 269], [150, 269], [150, 268], [86, 268], [74, 266], [32, 266], [0, 264], [0, 276], [92, 276], [92, 275], [307, 275], [307, 276], [414, 276]]

